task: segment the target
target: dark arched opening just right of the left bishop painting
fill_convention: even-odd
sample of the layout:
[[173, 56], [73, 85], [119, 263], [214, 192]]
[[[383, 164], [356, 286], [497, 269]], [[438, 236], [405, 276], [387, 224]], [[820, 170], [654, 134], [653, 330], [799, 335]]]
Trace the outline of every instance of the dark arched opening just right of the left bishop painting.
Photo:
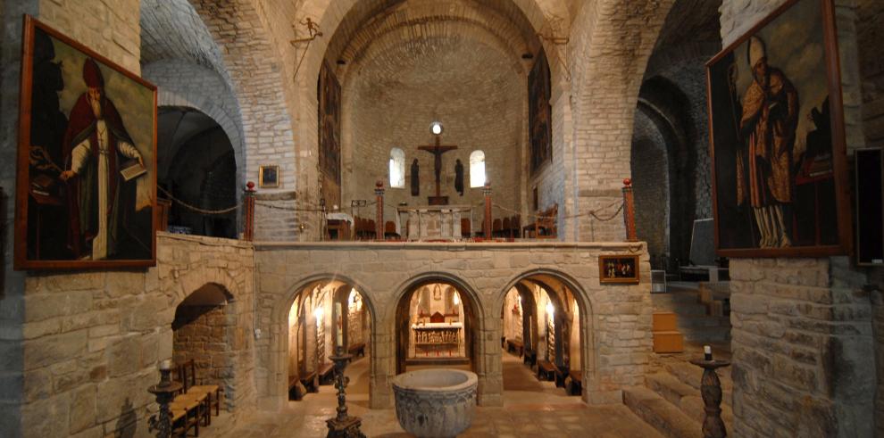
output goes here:
[[[157, 183], [172, 202], [169, 225], [200, 236], [235, 238], [237, 161], [229, 137], [215, 120], [193, 108], [163, 106], [157, 116]], [[196, 211], [189, 206], [203, 211]]]

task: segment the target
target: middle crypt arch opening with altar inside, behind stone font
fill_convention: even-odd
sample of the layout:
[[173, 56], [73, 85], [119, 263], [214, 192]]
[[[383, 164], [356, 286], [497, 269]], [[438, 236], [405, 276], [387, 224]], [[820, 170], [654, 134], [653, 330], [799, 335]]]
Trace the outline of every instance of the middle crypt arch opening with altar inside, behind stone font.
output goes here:
[[445, 280], [413, 285], [396, 306], [396, 374], [424, 366], [476, 370], [478, 309]]

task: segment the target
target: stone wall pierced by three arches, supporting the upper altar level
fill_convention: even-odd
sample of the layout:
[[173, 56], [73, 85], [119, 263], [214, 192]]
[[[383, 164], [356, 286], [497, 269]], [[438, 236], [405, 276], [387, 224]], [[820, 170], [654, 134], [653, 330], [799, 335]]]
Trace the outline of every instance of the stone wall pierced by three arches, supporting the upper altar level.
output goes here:
[[[584, 399], [618, 403], [621, 388], [640, 384], [651, 349], [650, 271], [644, 245], [630, 244], [272, 244], [257, 243], [258, 391], [263, 408], [288, 393], [288, 312], [305, 285], [336, 278], [354, 285], [371, 314], [372, 408], [392, 406], [396, 303], [421, 279], [448, 281], [477, 303], [479, 402], [503, 402], [500, 311], [522, 278], [541, 275], [574, 290], [584, 330]], [[639, 285], [599, 285], [598, 256], [635, 252]], [[549, 279], [552, 280], [549, 280]], [[464, 300], [467, 298], [463, 298]]]

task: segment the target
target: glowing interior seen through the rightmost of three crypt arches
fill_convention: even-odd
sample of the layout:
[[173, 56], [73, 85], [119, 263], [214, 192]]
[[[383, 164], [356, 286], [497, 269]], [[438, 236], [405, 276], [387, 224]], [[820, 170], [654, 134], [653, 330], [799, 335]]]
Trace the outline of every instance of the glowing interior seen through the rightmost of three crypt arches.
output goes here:
[[[583, 349], [588, 343], [583, 340], [586, 323], [580, 307], [574, 290], [553, 275], [524, 277], [505, 293], [501, 315], [505, 393], [584, 393], [587, 354]], [[530, 400], [530, 394], [507, 400]]]

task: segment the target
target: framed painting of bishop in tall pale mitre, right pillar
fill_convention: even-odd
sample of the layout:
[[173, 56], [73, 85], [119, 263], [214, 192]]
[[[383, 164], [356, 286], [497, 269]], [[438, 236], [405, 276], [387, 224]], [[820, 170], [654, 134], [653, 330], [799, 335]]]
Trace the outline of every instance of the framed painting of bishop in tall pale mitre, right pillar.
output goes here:
[[716, 252], [850, 250], [831, 0], [792, 0], [706, 63]]

